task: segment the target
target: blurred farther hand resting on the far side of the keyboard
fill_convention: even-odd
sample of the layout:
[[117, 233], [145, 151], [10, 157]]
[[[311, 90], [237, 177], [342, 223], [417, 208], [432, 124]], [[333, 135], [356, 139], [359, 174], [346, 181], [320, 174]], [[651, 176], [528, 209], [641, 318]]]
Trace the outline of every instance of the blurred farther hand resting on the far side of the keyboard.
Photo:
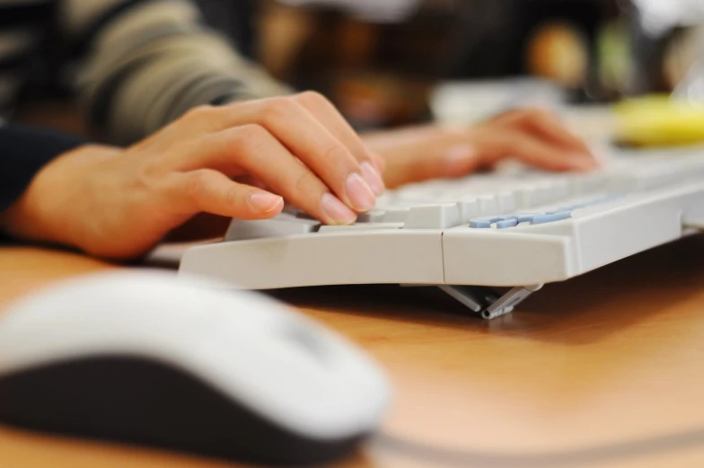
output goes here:
[[589, 148], [544, 110], [514, 110], [473, 128], [406, 128], [364, 137], [383, 156], [388, 187], [456, 178], [514, 158], [549, 171], [588, 171]]

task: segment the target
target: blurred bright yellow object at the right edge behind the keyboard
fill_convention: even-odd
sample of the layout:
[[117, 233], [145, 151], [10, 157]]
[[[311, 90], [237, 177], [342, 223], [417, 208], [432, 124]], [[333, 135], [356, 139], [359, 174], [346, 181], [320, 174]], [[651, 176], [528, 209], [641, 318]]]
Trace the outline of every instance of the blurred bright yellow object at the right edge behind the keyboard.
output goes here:
[[701, 106], [668, 95], [627, 100], [613, 108], [616, 139], [629, 146], [682, 146], [704, 143]]

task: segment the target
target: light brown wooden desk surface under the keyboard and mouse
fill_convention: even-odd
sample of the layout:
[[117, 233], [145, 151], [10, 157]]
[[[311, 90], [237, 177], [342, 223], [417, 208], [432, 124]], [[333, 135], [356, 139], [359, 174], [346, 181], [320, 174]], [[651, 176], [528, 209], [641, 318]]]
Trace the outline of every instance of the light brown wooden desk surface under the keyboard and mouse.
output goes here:
[[[49, 281], [105, 268], [67, 253], [0, 249], [0, 307]], [[384, 432], [427, 446], [383, 437], [335, 468], [582, 466], [555, 455], [594, 447], [596, 463], [585, 465], [704, 465], [704, 236], [546, 287], [494, 322], [416, 288], [277, 296], [378, 358], [397, 392]], [[451, 464], [448, 450], [473, 455]], [[491, 453], [499, 455], [482, 458]], [[0, 464], [232, 466], [10, 428], [0, 429]]]

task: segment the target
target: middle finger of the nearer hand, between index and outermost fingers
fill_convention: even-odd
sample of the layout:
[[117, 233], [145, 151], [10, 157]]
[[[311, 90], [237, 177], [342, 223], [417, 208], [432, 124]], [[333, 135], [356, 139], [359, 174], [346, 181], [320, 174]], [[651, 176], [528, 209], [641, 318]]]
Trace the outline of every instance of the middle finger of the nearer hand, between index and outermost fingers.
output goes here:
[[251, 123], [266, 128], [349, 208], [359, 213], [374, 208], [376, 197], [356, 158], [298, 102], [287, 98], [245, 102], [214, 109], [208, 119], [213, 128], [223, 130]]

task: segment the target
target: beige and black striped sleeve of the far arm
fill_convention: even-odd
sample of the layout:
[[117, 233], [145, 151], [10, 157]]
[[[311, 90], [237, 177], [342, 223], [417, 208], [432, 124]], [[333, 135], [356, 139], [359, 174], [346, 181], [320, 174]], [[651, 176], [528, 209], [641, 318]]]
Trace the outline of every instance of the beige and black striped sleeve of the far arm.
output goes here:
[[72, 82], [93, 126], [127, 145], [202, 104], [290, 93], [203, 24], [187, 0], [64, 0]]

